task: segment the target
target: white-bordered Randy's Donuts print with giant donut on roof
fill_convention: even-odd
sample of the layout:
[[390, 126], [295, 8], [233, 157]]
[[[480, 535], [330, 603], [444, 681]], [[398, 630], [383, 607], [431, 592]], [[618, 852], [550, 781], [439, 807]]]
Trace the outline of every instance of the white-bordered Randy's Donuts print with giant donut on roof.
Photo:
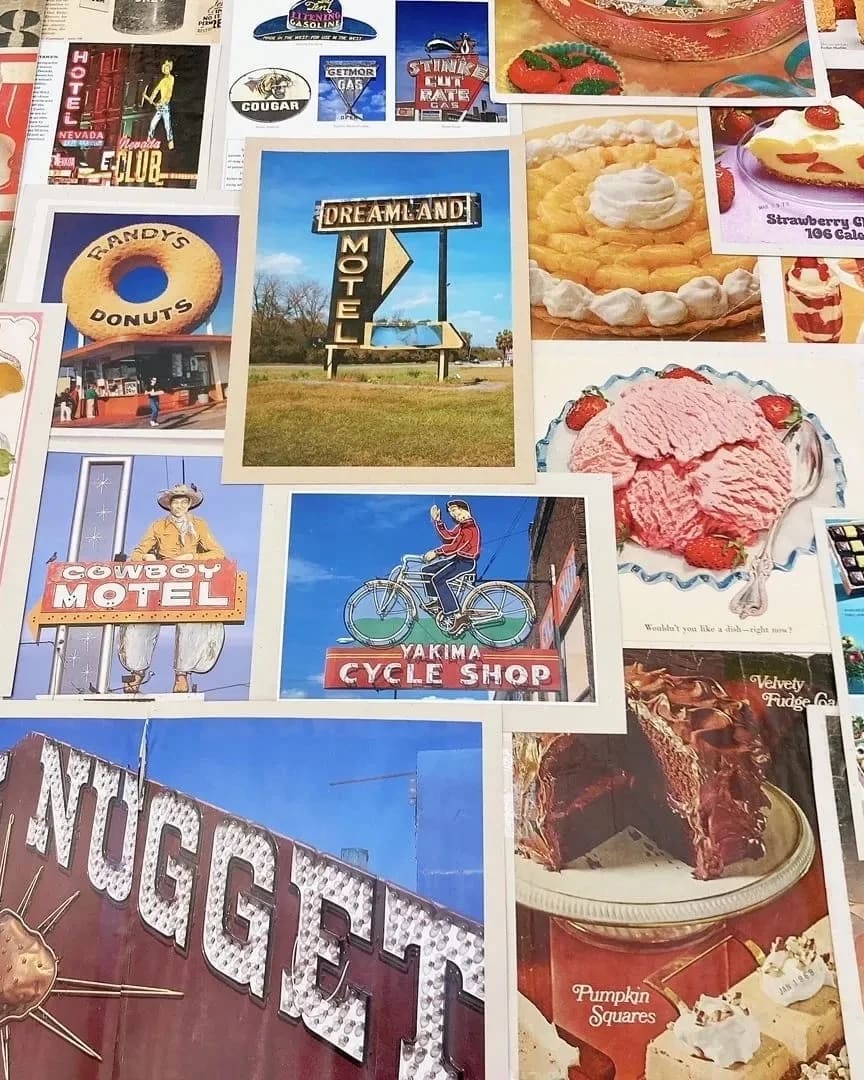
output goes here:
[[[53, 424], [117, 450], [218, 440], [225, 427], [238, 213], [231, 197], [143, 202], [28, 188], [12, 253], [15, 296], [67, 305]], [[71, 193], [70, 193], [71, 194]], [[118, 443], [120, 440], [120, 443]]]

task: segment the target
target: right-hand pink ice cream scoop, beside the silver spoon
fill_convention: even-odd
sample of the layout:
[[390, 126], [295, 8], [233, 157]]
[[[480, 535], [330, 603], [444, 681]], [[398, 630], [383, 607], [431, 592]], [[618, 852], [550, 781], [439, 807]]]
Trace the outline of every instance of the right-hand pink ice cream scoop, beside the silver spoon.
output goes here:
[[688, 478], [714, 531], [744, 540], [769, 528], [792, 494], [789, 460], [773, 433], [753, 446], [721, 446]]

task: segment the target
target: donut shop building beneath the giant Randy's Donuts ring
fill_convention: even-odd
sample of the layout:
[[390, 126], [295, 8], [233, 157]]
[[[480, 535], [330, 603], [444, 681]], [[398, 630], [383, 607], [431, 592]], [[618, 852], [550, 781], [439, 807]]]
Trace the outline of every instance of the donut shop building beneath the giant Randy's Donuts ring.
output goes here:
[[70, 349], [60, 361], [57, 392], [91, 383], [99, 396], [99, 417], [134, 419], [148, 411], [146, 389], [156, 378], [163, 413], [225, 401], [231, 337], [178, 334], [174, 337], [120, 337]]

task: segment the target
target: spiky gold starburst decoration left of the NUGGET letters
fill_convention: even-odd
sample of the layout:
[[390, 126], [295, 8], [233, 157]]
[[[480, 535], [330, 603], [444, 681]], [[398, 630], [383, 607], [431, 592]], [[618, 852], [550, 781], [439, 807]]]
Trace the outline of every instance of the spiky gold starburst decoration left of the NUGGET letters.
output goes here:
[[33, 1021], [60, 1039], [80, 1050], [87, 1057], [102, 1061], [99, 1054], [62, 1024], [45, 1008], [53, 998], [181, 998], [179, 990], [158, 986], [129, 986], [125, 983], [95, 983], [85, 978], [65, 978], [59, 973], [59, 960], [48, 944], [60, 919], [78, 899], [75, 892], [46, 915], [41, 922], [27, 922], [27, 912], [36, 893], [42, 867], [36, 872], [16, 908], [3, 906], [9, 846], [12, 840], [13, 814], [6, 825], [3, 850], [0, 854], [0, 1059], [3, 1080], [13, 1080], [10, 1055], [12, 1024]]

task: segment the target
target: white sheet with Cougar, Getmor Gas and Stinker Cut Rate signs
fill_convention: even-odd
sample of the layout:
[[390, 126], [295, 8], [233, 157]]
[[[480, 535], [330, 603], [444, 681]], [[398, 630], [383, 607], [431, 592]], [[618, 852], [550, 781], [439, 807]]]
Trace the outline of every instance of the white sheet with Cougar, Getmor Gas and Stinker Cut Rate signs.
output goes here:
[[233, 4], [215, 157], [240, 188], [246, 138], [510, 133], [489, 94], [486, 0]]

